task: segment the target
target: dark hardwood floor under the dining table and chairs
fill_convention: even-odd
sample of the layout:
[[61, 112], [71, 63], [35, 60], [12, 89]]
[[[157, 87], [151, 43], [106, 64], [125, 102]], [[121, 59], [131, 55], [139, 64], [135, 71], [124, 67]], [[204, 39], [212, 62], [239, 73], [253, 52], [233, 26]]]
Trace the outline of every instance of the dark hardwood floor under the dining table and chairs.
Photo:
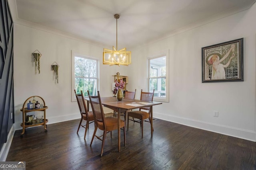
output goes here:
[[[86, 139], [84, 128], [76, 134], [79, 119], [15, 132], [6, 161], [26, 161], [27, 170], [255, 170], [256, 143], [221, 135], [160, 119], [144, 123], [141, 138], [139, 123], [129, 123], [124, 147], [117, 147], [117, 131], [107, 134], [103, 156], [101, 141], [90, 141], [94, 131], [90, 124]], [[98, 130], [98, 134], [102, 131]]]

